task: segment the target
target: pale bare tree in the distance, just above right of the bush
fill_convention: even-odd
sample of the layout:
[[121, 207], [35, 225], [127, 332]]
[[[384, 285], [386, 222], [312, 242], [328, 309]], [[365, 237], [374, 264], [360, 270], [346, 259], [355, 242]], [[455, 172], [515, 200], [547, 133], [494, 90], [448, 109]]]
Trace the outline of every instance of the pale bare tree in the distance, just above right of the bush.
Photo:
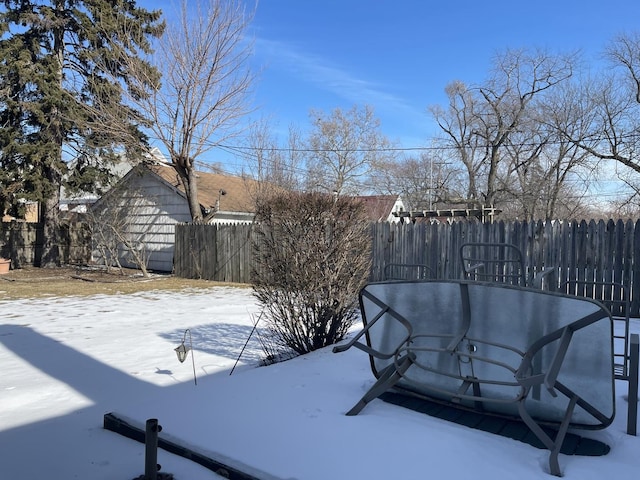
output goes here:
[[371, 166], [393, 154], [370, 106], [354, 106], [347, 112], [336, 108], [330, 115], [312, 110], [310, 118], [313, 127], [307, 147], [308, 190], [357, 194], [360, 181]]

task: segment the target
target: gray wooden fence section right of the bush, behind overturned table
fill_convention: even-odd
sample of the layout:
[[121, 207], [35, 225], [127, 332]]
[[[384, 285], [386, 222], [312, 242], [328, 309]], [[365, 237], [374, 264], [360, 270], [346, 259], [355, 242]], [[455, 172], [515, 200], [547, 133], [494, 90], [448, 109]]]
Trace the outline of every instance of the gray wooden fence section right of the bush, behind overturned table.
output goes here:
[[567, 281], [626, 286], [630, 315], [640, 316], [640, 221], [377, 223], [372, 235], [373, 281], [394, 263], [426, 265], [437, 279], [460, 278], [462, 244], [510, 243], [523, 252], [530, 276], [556, 269], [555, 287]]

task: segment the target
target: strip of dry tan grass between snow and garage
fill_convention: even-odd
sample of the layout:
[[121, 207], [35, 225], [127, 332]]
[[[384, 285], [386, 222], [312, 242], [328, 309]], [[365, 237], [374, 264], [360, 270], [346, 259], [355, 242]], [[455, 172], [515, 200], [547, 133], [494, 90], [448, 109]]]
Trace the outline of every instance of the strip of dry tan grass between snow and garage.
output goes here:
[[[0, 300], [44, 296], [120, 295], [151, 290], [179, 291], [231, 285], [173, 275], [143, 277], [137, 270], [107, 272], [96, 268], [24, 268], [0, 275]], [[234, 286], [242, 286], [233, 284]]]

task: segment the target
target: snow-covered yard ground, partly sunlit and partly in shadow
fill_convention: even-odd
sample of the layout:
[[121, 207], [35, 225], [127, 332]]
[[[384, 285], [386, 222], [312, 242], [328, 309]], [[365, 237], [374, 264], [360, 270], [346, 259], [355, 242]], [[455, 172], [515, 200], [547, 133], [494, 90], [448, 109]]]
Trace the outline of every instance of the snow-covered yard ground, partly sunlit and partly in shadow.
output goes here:
[[[142, 475], [144, 445], [104, 430], [108, 412], [141, 426], [158, 418], [161, 436], [261, 478], [553, 478], [545, 450], [380, 400], [346, 417], [373, 383], [355, 349], [255, 368], [252, 337], [230, 376], [258, 313], [248, 289], [5, 301], [0, 312], [0, 478]], [[197, 385], [191, 357], [181, 364], [174, 352], [187, 328]], [[640, 473], [640, 439], [625, 433], [626, 383], [616, 389], [614, 424], [588, 432], [611, 452], [561, 455], [565, 478]], [[158, 462], [177, 480], [219, 478], [162, 450]]]

